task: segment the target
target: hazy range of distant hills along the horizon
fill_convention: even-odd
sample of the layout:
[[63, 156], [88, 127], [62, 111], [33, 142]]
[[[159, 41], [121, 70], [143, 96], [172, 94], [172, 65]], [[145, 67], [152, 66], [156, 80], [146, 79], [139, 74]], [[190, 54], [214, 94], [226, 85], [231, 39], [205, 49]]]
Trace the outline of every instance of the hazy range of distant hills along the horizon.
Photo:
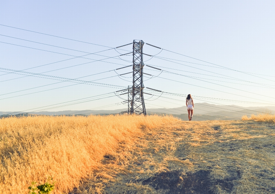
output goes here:
[[[57, 112], [32, 112], [30, 114], [38, 114], [38, 115], [90, 115], [90, 114], [117, 114], [123, 111], [126, 111], [126, 108], [117, 109], [117, 110], [65, 110], [65, 111], [57, 111]], [[177, 108], [147, 108], [146, 112], [148, 114], [173, 114], [183, 120], [188, 120], [187, 109], [186, 106], [181, 106]], [[13, 112], [1, 112], [0, 115], [7, 115]], [[22, 115], [24, 112], [16, 112], [12, 115], [20, 114]], [[236, 105], [215, 105], [208, 103], [196, 103], [194, 105], [194, 116], [197, 118], [193, 118], [192, 120], [237, 120], [240, 119], [242, 115], [250, 116], [251, 114], [258, 113], [270, 113], [275, 114], [275, 106], [257, 106], [257, 107], [242, 107]], [[25, 116], [28, 114], [24, 114]]]

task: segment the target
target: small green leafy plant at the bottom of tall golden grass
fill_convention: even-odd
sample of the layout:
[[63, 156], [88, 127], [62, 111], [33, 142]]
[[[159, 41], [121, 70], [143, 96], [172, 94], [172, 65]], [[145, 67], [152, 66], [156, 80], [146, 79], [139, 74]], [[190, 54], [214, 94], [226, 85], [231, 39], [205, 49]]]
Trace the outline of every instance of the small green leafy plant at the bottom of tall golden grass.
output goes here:
[[[51, 182], [51, 183], [49, 183]], [[36, 186], [37, 182], [32, 182], [32, 186], [28, 187], [30, 189], [29, 194], [50, 194], [52, 190], [54, 190], [54, 182], [52, 181], [52, 177], [49, 177], [47, 182]]]

